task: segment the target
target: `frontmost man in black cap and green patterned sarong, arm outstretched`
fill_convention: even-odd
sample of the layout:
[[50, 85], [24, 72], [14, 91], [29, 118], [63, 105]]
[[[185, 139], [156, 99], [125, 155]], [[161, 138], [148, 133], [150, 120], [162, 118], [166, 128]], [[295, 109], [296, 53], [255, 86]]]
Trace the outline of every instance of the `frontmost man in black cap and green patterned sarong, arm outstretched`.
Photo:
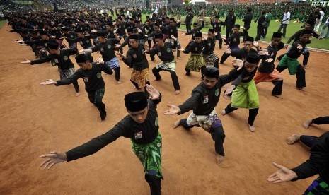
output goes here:
[[110, 131], [66, 153], [54, 151], [47, 155], [41, 155], [39, 158], [46, 158], [46, 160], [41, 163], [40, 167], [44, 166], [45, 169], [50, 169], [58, 162], [69, 162], [93, 155], [117, 138], [124, 136], [131, 139], [132, 149], [142, 162], [145, 180], [150, 186], [150, 194], [160, 195], [161, 179], [163, 179], [161, 172], [162, 138], [158, 131], [156, 105], [161, 102], [161, 94], [151, 85], [146, 85], [146, 90], [150, 95], [149, 100], [142, 92], [125, 95], [125, 105], [129, 115], [118, 122]]

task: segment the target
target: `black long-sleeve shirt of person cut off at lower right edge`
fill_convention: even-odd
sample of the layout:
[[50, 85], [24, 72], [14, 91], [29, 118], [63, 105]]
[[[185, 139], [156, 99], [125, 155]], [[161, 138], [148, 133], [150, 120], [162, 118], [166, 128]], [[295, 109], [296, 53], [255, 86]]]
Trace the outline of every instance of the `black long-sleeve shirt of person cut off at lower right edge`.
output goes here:
[[329, 131], [322, 134], [314, 143], [310, 158], [298, 167], [294, 167], [292, 171], [296, 172], [297, 179], [305, 179], [318, 174], [329, 184]]

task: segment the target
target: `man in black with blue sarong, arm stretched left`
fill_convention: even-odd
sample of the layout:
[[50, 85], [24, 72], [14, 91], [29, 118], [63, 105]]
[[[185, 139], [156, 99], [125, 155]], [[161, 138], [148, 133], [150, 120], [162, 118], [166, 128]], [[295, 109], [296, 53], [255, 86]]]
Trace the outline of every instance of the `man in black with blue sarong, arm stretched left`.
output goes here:
[[79, 52], [97, 52], [99, 51], [102, 54], [102, 57], [105, 61], [106, 66], [109, 66], [110, 69], [114, 70], [115, 80], [120, 84], [120, 64], [115, 56], [115, 44], [120, 41], [120, 38], [117, 36], [117, 33], [114, 32], [115, 39], [107, 39], [104, 32], [97, 32], [97, 38], [99, 43], [91, 49], [81, 49]]

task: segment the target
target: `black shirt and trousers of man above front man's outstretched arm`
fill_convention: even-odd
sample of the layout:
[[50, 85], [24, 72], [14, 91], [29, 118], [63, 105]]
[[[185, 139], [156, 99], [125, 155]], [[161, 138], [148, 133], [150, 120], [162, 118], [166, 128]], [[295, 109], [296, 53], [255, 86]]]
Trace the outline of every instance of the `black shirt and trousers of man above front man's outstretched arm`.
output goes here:
[[105, 104], [102, 102], [103, 95], [105, 93], [105, 82], [102, 77], [102, 71], [108, 74], [112, 74], [112, 70], [105, 64], [91, 64], [91, 70], [78, 69], [69, 78], [64, 78], [57, 81], [56, 86], [59, 85], [69, 85], [79, 78], [83, 79], [86, 85], [86, 91], [88, 93], [88, 98], [91, 103], [93, 103], [100, 112], [100, 118], [104, 120], [106, 118]]

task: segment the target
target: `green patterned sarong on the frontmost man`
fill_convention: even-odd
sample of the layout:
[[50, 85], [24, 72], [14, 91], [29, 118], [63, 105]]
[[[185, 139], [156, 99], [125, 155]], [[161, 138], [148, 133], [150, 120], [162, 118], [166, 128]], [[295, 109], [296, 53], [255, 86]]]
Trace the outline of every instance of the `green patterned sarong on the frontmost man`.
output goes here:
[[161, 173], [161, 148], [162, 138], [160, 132], [156, 139], [145, 145], [137, 144], [132, 141], [132, 150], [142, 162], [144, 172], [149, 175], [154, 175], [158, 178], [163, 178]]

